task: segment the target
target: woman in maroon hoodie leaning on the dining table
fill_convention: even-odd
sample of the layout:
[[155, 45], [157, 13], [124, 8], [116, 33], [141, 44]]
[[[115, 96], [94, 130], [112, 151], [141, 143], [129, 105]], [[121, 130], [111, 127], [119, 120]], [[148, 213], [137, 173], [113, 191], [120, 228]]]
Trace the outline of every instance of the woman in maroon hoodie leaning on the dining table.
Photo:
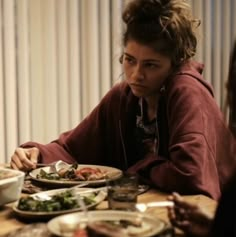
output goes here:
[[108, 165], [163, 191], [218, 199], [235, 146], [203, 65], [192, 60], [199, 22], [183, 0], [133, 0], [123, 21], [125, 80], [75, 129], [47, 145], [17, 148], [11, 166], [59, 159]]

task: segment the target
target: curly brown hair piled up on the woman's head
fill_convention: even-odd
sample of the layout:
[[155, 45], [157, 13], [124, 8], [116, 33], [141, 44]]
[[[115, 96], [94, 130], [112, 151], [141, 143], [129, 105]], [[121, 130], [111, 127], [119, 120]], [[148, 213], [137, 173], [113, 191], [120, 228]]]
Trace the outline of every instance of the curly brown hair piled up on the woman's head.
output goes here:
[[165, 54], [177, 66], [196, 53], [194, 19], [186, 0], [133, 0], [124, 9], [123, 44], [135, 40]]

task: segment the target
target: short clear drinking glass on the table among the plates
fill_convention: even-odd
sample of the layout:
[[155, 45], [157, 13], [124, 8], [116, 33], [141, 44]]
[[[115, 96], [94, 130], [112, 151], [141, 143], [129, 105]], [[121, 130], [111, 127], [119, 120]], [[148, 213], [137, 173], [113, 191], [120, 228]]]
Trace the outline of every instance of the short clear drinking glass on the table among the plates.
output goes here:
[[108, 207], [112, 210], [136, 210], [138, 179], [136, 175], [124, 175], [108, 186]]

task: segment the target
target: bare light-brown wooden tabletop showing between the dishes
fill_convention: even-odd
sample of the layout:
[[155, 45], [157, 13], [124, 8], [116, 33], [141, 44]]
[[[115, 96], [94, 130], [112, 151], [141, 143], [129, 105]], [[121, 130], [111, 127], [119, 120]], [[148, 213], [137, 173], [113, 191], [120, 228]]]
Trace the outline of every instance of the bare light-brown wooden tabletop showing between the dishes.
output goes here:
[[[162, 193], [158, 190], [151, 189], [144, 194], [139, 195], [138, 202], [147, 203], [152, 201], [163, 201], [166, 200], [168, 194]], [[191, 195], [184, 196], [184, 198], [190, 202], [194, 202], [206, 209], [210, 214], [214, 215], [216, 209], [216, 201], [204, 196], [204, 195]], [[17, 228], [20, 228], [25, 225], [25, 223], [19, 221], [14, 216], [12, 209], [12, 204], [5, 205], [0, 208], [0, 236], [7, 234]], [[103, 201], [97, 206], [96, 209], [107, 209], [107, 201]], [[156, 217], [168, 221], [167, 210], [166, 208], [150, 208], [147, 210]], [[184, 236], [183, 233], [177, 231], [178, 236]]]

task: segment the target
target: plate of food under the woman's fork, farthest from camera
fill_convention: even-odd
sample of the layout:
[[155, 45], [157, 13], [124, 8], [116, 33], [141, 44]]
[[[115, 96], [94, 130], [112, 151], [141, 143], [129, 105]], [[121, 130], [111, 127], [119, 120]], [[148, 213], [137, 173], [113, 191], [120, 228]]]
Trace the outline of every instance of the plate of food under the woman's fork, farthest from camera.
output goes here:
[[[59, 166], [59, 165], [60, 166]], [[103, 185], [107, 181], [118, 179], [122, 171], [101, 165], [66, 164], [58, 161], [55, 166], [45, 166], [32, 170], [29, 173], [31, 179], [53, 186], [68, 187], [86, 183], [88, 186]]]

